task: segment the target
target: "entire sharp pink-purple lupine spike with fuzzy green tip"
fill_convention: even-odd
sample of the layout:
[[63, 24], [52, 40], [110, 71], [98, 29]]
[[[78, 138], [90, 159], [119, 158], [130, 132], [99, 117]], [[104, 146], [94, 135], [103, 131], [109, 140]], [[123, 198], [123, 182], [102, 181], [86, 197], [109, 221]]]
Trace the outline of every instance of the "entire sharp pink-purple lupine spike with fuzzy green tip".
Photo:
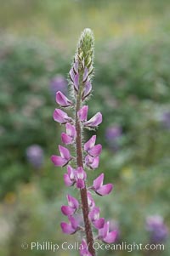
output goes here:
[[[93, 61], [94, 36], [90, 29], [85, 29], [78, 42], [77, 52], [69, 72], [71, 95], [67, 98], [60, 91], [56, 93], [56, 102], [59, 108], [54, 110], [53, 115], [54, 121], [65, 126], [65, 130], [61, 134], [62, 143], [66, 146], [75, 145], [76, 149], [75, 154], [73, 153], [71, 156], [68, 148], [59, 145], [60, 156], [51, 156], [51, 160], [57, 167], [67, 166], [67, 172], [64, 174], [65, 185], [74, 186], [80, 192], [80, 201], [67, 195], [66, 205], [61, 206], [61, 212], [68, 218], [67, 222], [61, 223], [61, 229], [65, 234], [74, 234], [81, 230], [82, 235], [84, 231], [80, 247], [82, 256], [96, 255], [93, 246], [94, 235], [95, 239], [106, 243], [115, 242], [117, 236], [116, 230], [110, 230], [110, 222], [100, 217], [99, 207], [95, 205], [91, 193], [95, 192], [96, 195], [106, 196], [111, 193], [113, 185], [103, 185], [104, 174], [100, 174], [94, 179], [93, 185], [87, 187], [88, 173], [90, 174], [91, 169], [99, 167], [99, 156], [102, 151], [102, 145], [96, 144], [96, 135], [93, 135], [85, 143], [82, 139], [84, 128], [95, 129], [102, 122], [100, 112], [88, 119], [88, 105], [85, 105], [92, 92]], [[64, 108], [64, 111], [61, 108]], [[69, 113], [65, 110], [69, 110]]]

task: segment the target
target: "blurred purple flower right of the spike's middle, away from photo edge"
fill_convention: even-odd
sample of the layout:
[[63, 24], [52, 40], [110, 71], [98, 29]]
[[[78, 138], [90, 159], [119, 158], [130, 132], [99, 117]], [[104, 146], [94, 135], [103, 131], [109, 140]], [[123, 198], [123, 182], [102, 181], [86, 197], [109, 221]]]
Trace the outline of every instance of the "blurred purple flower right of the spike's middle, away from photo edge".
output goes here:
[[106, 128], [105, 139], [113, 151], [119, 148], [118, 139], [122, 136], [122, 128], [118, 125], [112, 125]]

